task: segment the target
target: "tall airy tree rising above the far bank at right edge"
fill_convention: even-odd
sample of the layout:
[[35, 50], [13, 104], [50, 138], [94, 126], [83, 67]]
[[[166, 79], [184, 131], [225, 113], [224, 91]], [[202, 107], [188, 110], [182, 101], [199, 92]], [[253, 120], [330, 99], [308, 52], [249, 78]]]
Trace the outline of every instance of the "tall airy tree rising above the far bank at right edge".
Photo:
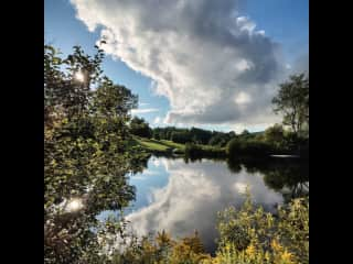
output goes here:
[[309, 76], [292, 75], [280, 84], [278, 95], [272, 99], [275, 112], [284, 114], [284, 124], [301, 135], [309, 124]]

